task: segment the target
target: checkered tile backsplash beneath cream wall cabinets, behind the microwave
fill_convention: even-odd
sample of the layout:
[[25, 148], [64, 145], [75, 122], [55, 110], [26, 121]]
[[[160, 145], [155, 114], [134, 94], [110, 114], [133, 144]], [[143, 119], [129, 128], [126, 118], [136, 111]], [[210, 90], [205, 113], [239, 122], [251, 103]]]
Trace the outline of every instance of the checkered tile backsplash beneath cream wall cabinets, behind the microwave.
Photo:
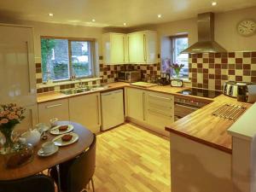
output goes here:
[[141, 70], [142, 74], [160, 75], [160, 63], [148, 65], [104, 65], [100, 64], [101, 83], [112, 83], [117, 80], [118, 72], [125, 70]]

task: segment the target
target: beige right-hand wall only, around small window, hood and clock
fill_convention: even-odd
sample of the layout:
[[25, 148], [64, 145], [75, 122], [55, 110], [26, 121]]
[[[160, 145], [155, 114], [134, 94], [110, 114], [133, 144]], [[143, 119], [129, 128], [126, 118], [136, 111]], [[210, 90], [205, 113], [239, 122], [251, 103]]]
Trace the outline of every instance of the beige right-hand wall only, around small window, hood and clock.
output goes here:
[[[240, 9], [215, 15], [215, 40], [230, 51], [256, 50], [256, 35], [251, 37], [241, 37], [236, 31], [237, 23], [245, 19], [256, 20], [256, 7]], [[159, 40], [166, 36], [177, 35], [179, 33], [189, 34], [189, 44], [197, 41], [197, 21], [196, 18], [188, 20], [177, 20], [154, 26], [139, 26], [130, 29], [130, 32], [140, 30], [156, 30]]]

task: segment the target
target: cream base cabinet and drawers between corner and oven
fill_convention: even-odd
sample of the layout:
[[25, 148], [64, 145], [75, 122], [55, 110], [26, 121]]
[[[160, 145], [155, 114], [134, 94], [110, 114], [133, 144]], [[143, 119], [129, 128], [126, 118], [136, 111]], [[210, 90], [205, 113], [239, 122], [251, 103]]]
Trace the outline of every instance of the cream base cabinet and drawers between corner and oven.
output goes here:
[[150, 90], [125, 88], [125, 115], [146, 128], [168, 135], [166, 125], [174, 122], [174, 97]]

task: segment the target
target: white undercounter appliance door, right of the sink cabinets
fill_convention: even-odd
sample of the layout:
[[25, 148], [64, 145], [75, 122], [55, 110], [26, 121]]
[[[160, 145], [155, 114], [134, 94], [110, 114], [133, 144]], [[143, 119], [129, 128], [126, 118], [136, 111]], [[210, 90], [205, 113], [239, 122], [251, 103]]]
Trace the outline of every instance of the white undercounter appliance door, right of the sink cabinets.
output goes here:
[[101, 94], [102, 131], [125, 122], [123, 90], [112, 90]]

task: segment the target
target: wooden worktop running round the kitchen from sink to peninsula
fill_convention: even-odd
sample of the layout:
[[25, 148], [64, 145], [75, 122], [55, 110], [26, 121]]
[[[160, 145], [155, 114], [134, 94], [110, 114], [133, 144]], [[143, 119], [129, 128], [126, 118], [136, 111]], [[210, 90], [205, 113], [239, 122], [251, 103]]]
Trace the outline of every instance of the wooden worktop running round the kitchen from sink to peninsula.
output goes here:
[[[152, 90], [160, 93], [172, 94], [174, 96], [179, 96], [182, 98], [196, 98], [199, 102], [206, 102], [207, 106], [198, 109], [194, 113], [190, 113], [183, 119], [177, 120], [172, 125], [168, 125], [166, 127], [166, 131], [170, 131], [177, 135], [187, 137], [189, 139], [194, 140], [198, 143], [206, 144], [210, 147], [217, 148], [226, 153], [232, 153], [232, 141], [231, 136], [228, 134], [227, 130], [231, 125], [235, 123], [235, 121], [230, 119], [221, 119], [215, 116], [212, 116], [212, 112], [217, 110], [219, 107], [228, 104], [237, 104], [244, 105], [247, 108], [252, 106], [252, 104], [237, 102], [236, 99], [231, 98], [229, 96], [220, 95], [215, 97], [214, 99], [199, 97], [199, 96], [183, 96], [177, 93], [180, 90], [188, 89], [187, 87], [183, 88], [174, 88], [170, 85], [167, 86], [154, 86], [150, 88], [142, 88], [138, 86], [133, 86], [123, 82], [116, 82], [112, 84], [108, 84], [109, 88], [106, 90], [98, 90], [98, 91], [108, 91], [115, 90], [124, 87], [132, 87], [141, 90]], [[72, 96], [80, 96], [84, 94], [91, 94], [98, 91], [90, 92], [90, 93], [79, 93], [74, 95], [64, 95], [61, 93], [46, 93], [38, 95], [38, 103], [39, 102], [49, 102], [57, 99], [68, 98]]]

